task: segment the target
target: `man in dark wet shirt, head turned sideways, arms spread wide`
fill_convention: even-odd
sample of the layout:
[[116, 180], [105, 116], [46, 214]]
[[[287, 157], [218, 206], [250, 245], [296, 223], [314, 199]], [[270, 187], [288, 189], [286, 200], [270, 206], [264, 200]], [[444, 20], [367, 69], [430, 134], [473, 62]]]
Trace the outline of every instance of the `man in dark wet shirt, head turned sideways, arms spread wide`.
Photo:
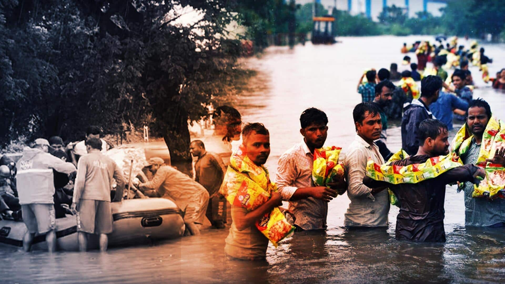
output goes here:
[[[407, 159], [391, 164], [407, 166], [424, 163], [428, 159], [448, 154], [447, 126], [437, 119], [426, 119], [419, 124], [419, 150]], [[418, 242], [445, 242], [443, 227], [445, 185], [457, 181], [475, 182], [484, 177], [484, 169], [473, 164], [453, 168], [438, 177], [419, 183], [390, 184], [385, 181], [363, 179], [363, 183], [376, 188], [388, 185], [400, 202], [396, 217], [396, 239]]]

